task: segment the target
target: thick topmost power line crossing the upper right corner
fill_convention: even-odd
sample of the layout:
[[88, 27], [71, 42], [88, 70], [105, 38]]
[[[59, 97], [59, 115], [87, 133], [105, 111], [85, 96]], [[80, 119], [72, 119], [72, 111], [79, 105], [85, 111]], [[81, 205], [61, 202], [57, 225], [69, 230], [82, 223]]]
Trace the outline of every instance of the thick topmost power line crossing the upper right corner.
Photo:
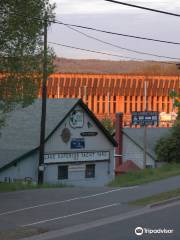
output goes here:
[[117, 3], [117, 4], [125, 5], [125, 6], [128, 6], [128, 7], [140, 8], [140, 9], [151, 11], [151, 12], [157, 12], [157, 13], [162, 13], [162, 14], [166, 14], [166, 15], [171, 15], [171, 16], [174, 16], [174, 17], [180, 17], [180, 14], [177, 14], [177, 13], [166, 12], [166, 11], [162, 11], [162, 10], [158, 10], [158, 9], [147, 8], [147, 7], [143, 7], [143, 6], [139, 6], [139, 5], [134, 5], [134, 4], [130, 4], [130, 3], [114, 1], [114, 0], [105, 0], [105, 1], [106, 2], [111, 2], [111, 3]]

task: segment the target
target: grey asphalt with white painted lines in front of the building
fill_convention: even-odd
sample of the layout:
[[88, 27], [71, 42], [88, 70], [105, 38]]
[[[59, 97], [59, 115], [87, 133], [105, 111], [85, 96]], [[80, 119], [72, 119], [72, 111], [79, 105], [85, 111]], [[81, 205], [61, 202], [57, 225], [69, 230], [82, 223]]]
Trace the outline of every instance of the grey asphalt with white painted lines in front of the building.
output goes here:
[[[132, 224], [130, 229], [122, 227], [124, 230], [122, 234], [127, 234], [129, 231], [132, 232], [133, 221], [135, 221], [133, 219], [137, 218], [135, 223], [143, 219], [146, 223], [148, 219], [144, 217], [145, 215], [133, 216], [130, 220], [123, 219], [123, 222], [121, 219], [121, 224], [118, 224], [122, 216], [128, 213], [131, 215], [134, 211], [142, 211], [142, 209], [128, 206], [128, 201], [180, 187], [179, 182], [180, 177], [173, 177], [129, 188], [62, 188], [2, 193], [0, 194], [0, 230], [40, 227], [47, 231], [59, 231], [59, 229], [80, 227], [83, 236], [86, 231], [96, 233], [100, 231], [99, 229], [106, 230], [108, 226], [109, 232], [113, 233], [114, 229], [113, 237], [116, 237], [120, 226]], [[171, 215], [171, 210], [168, 209], [167, 211], [170, 212], [167, 214]], [[173, 209], [175, 209], [174, 212], [178, 212], [179, 206]], [[150, 217], [149, 224], [154, 221], [154, 218], [156, 219], [157, 216], [161, 218], [162, 215], [161, 212], [157, 213], [157, 216], [154, 212], [146, 214]], [[168, 218], [163, 218], [163, 221], [164, 219]], [[92, 229], [84, 229], [83, 224]], [[173, 224], [175, 226], [176, 221]], [[96, 229], [95, 226], [99, 228]], [[76, 234], [77, 239], [80, 239], [78, 235], [80, 233]], [[68, 236], [64, 236], [64, 239], [66, 237], [68, 239]]]

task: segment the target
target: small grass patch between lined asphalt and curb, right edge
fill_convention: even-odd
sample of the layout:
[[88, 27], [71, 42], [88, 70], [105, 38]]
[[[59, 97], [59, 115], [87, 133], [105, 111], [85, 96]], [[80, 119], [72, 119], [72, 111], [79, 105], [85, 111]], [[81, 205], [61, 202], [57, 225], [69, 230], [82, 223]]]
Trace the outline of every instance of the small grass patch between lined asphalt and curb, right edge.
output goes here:
[[136, 206], [145, 206], [148, 204], [161, 202], [161, 201], [168, 200], [175, 197], [180, 197], [180, 188], [177, 188], [175, 190], [168, 191], [168, 192], [163, 192], [157, 195], [153, 195], [151, 197], [141, 198], [141, 199], [129, 202], [129, 204], [136, 205]]

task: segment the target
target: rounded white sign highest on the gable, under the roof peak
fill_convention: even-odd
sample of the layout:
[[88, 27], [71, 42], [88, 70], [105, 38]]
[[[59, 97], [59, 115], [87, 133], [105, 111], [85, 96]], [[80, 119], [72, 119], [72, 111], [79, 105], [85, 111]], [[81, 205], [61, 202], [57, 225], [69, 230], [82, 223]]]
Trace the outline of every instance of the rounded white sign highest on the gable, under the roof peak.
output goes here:
[[70, 114], [69, 124], [72, 128], [82, 128], [84, 125], [84, 114], [81, 110], [74, 110]]

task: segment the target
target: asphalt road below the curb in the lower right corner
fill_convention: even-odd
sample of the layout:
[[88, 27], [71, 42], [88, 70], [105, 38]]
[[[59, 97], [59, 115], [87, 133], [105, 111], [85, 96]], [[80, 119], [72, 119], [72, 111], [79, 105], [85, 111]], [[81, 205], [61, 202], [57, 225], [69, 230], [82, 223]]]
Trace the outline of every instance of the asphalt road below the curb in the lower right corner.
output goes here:
[[[66, 234], [65, 236], [51, 238], [52, 240], [179, 240], [179, 216], [180, 203], [178, 206], [168, 207], [163, 210], [150, 212], [128, 220], [116, 221], [111, 224], [105, 224], [100, 227], [90, 228], [88, 230], [78, 231], [77, 233]], [[135, 234], [135, 229], [167, 229], [170, 233], [144, 233], [141, 236]]]

